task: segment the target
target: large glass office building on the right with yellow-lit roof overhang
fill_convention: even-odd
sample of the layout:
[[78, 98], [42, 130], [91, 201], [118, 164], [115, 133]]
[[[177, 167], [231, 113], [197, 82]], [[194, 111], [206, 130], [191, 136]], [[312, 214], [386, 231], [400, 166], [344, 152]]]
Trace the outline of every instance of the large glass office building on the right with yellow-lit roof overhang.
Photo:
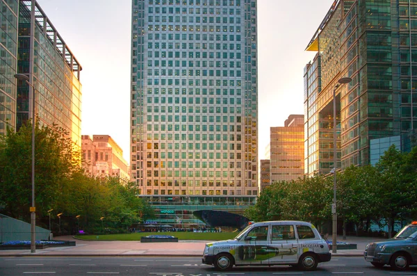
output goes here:
[[[336, 168], [370, 163], [370, 140], [417, 126], [417, 3], [410, 0], [334, 1], [307, 50], [305, 69], [306, 173], [327, 173], [333, 161], [336, 94]], [[352, 81], [338, 86], [342, 77]]]

